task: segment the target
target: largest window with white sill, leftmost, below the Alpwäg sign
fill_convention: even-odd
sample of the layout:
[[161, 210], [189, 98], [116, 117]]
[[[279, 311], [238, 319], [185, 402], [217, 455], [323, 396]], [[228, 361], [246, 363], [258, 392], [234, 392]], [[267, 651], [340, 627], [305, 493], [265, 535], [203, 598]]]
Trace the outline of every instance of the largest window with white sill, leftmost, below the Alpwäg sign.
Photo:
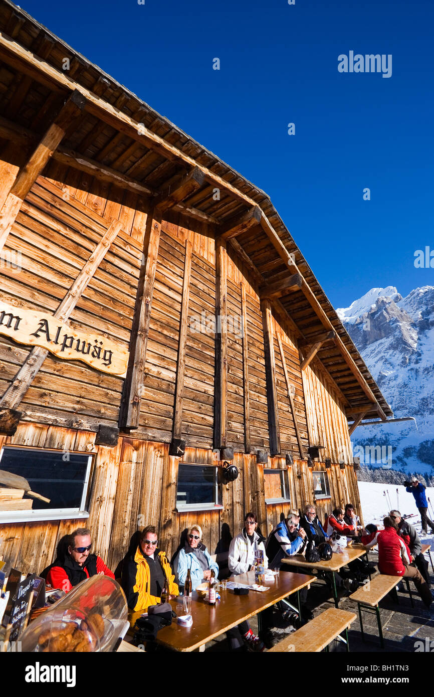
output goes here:
[[[36, 450], [30, 447], [3, 447], [0, 470], [0, 519], [49, 520], [88, 517], [84, 511], [92, 457], [62, 450]], [[30, 491], [47, 500], [34, 498]], [[22, 484], [22, 485], [21, 485]]]

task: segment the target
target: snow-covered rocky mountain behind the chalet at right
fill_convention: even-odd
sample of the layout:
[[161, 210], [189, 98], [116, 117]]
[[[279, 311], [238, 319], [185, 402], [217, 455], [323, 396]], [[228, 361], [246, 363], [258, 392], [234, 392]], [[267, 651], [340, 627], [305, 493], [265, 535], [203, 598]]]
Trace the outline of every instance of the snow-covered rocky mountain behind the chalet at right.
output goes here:
[[[417, 422], [417, 427], [412, 421], [358, 427], [354, 445], [364, 447], [368, 464], [369, 459], [385, 464], [392, 452], [394, 469], [433, 473], [434, 286], [414, 289], [406, 298], [394, 286], [373, 288], [336, 312], [395, 418], [412, 416]], [[384, 447], [383, 463], [373, 461], [366, 446]]]

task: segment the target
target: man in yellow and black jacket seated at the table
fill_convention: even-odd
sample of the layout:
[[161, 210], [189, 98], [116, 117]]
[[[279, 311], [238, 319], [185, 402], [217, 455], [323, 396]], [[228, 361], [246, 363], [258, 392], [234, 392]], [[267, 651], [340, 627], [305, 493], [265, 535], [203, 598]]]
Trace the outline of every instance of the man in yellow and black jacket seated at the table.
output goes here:
[[127, 555], [123, 564], [121, 585], [127, 597], [132, 627], [148, 606], [160, 603], [166, 582], [169, 594], [178, 595], [175, 576], [166, 554], [157, 548], [157, 542], [157, 528], [148, 525], [141, 533], [136, 551]]

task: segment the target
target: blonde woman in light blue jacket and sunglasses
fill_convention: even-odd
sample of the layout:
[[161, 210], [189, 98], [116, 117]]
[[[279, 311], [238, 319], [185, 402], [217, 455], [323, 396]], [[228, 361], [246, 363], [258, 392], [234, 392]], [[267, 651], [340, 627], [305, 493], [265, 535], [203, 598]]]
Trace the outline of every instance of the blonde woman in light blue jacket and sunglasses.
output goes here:
[[196, 586], [203, 581], [209, 581], [212, 571], [217, 579], [219, 567], [212, 561], [210, 553], [203, 542], [201, 542], [201, 539], [202, 528], [199, 525], [189, 528], [187, 541], [173, 562], [176, 581], [182, 591], [184, 590], [188, 569], [190, 569], [192, 578], [192, 590], [196, 590]]

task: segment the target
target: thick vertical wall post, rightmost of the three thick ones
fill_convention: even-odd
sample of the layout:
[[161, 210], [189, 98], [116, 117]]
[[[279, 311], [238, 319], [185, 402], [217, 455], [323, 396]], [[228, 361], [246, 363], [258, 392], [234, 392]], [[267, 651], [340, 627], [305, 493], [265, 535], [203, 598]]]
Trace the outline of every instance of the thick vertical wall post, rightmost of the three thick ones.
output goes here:
[[280, 452], [279, 408], [277, 406], [276, 363], [274, 358], [274, 339], [270, 300], [261, 302], [264, 348], [265, 377], [267, 382], [268, 430], [270, 433], [270, 455]]

